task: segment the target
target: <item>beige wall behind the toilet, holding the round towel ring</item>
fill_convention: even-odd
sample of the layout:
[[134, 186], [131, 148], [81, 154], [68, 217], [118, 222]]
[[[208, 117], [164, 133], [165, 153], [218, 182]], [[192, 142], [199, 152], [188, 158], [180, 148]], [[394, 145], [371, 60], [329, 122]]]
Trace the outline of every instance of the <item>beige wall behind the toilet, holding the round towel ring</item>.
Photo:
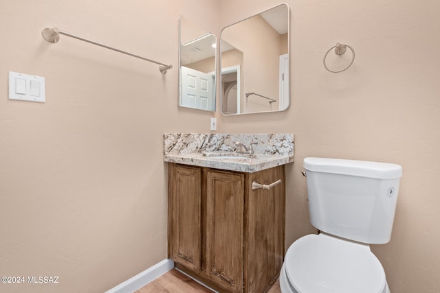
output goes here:
[[[292, 12], [290, 108], [221, 117], [219, 130], [294, 132], [287, 245], [315, 231], [300, 174], [306, 156], [402, 165], [393, 236], [373, 252], [393, 293], [440, 292], [440, 1], [285, 2]], [[219, 27], [278, 3], [222, 0]], [[356, 52], [344, 73], [322, 65], [336, 42]]]

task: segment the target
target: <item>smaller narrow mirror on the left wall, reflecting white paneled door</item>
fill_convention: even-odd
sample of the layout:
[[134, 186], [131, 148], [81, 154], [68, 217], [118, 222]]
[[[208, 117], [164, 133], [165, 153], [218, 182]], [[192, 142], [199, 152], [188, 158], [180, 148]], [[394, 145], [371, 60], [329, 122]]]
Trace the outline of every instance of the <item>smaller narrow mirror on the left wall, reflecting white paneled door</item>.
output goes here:
[[216, 36], [180, 16], [179, 43], [179, 106], [215, 111]]

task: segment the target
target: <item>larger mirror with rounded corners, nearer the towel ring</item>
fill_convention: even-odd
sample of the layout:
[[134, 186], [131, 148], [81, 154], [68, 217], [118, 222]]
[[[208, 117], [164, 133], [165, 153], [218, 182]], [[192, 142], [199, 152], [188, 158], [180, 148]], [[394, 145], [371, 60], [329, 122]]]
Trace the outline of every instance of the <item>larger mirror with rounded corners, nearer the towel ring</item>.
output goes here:
[[221, 113], [289, 108], [290, 12], [286, 3], [221, 30]]

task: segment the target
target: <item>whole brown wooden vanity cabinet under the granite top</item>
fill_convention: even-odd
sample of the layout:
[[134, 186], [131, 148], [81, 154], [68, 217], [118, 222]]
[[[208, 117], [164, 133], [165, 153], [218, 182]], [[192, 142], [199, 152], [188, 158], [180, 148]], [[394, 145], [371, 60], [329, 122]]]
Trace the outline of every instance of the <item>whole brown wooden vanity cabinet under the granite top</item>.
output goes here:
[[[252, 190], [252, 182], [270, 190]], [[219, 292], [265, 292], [284, 259], [285, 167], [168, 165], [168, 257]]]

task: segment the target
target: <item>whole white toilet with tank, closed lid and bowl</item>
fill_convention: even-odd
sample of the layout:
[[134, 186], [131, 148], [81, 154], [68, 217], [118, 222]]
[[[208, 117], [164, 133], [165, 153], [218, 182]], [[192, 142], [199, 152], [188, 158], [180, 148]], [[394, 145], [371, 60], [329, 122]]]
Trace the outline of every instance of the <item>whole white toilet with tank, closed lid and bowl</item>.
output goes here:
[[390, 293], [369, 244], [391, 239], [401, 166], [306, 158], [311, 224], [289, 247], [280, 273], [283, 293]]

